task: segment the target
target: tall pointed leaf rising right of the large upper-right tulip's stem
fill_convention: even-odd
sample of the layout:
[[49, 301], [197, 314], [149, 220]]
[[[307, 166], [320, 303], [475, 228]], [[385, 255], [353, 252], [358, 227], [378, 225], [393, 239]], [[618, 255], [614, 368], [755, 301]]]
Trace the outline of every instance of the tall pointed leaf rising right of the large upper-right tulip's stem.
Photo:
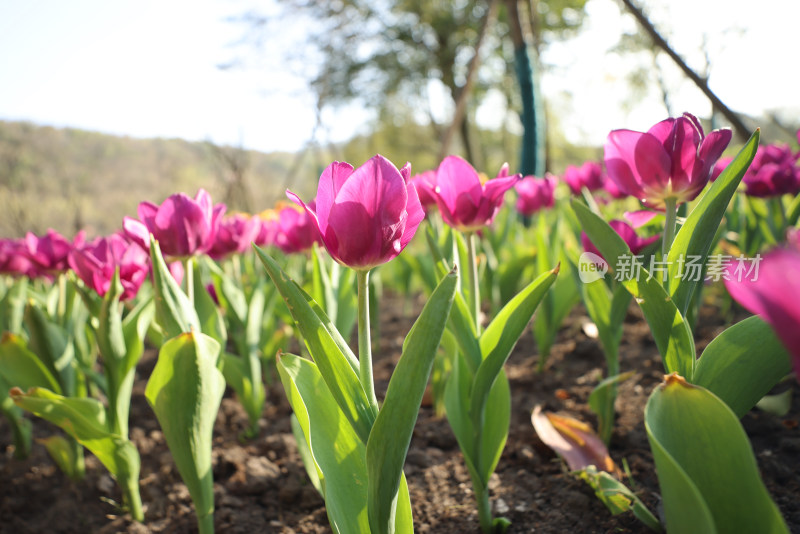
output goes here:
[[692, 293], [703, 283], [701, 276], [687, 276], [683, 279], [683, 275], [687, 274], [680, 272], [685, 268], [683, 262], [699, 256], [701, 258], [699, 264], [705, 265], [714, 234], [725, 215], [725, 210], [756, 154], [759, 137], [760, 130], [757, 129], [695, 205], [672, 242], [667, 256], [669, 289], [675, 306], [683, 315], [689, 308]]

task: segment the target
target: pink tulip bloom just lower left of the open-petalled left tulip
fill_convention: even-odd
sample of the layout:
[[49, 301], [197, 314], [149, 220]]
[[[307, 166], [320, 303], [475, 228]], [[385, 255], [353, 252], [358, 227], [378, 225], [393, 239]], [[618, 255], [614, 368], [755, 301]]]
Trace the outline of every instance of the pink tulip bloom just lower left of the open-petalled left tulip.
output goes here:
[[83, 283], [101, 297], [111, 287], [114, 271], [119, 268], [122, 300], [136, 296], [150, 272], [150, 256], [122, 233], [101, 237], [69, 254], [69, 265]]

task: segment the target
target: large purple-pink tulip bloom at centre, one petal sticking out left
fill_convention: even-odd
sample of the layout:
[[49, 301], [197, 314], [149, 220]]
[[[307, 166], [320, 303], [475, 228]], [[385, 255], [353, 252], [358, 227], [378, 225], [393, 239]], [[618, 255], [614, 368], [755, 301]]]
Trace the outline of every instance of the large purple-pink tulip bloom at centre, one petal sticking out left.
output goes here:
[[367, 271], [400, 254], [425, 218], [410, 174], [410, 164], [398, 171], [381, 155], [355, 170], [335, 161], [320, 176], [316, 207], [287, 194], [312, 217], [336, 261]]

